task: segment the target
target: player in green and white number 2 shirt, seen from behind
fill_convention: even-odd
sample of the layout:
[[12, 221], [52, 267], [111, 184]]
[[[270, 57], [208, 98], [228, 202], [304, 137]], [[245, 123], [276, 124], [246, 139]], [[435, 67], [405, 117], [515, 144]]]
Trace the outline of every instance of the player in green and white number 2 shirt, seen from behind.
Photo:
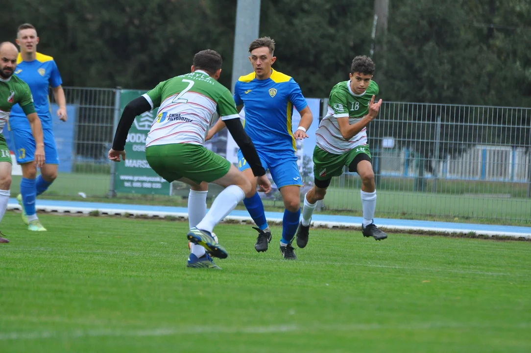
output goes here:
[[[269, 192], [271, 183], [265, 175], [253, 142], [243, 129], [230, 91], [217, 80], [221, 73], [221, 55], [212, 50], [195, 54], [191, 73], [160, 82], [157, 87], [129, 102], [116, 130], [109, 159], [125, 159], [127, 132], [137, 115], [158, 108], [157, 117], [145, 141], [145, 156], [152, 167], [168, 182], [190, 185], [187, 238], [193, 243], [188, 267], [219, 268], [206, 250], [215, 257], [227, 257], [227, 251], [211, 236], [214, 226], [225, 218], [245, 196], [256, 192], [251, 182], [227, 159], [204, 148], [209, 127], [220, 117], [258, 177], [260, 189]], [[225, 187], [206, 212], [208, 183]], [[191, 205], [191, 203], [193, 205]], [[195, 224], [194, 224], [195, 223]]]

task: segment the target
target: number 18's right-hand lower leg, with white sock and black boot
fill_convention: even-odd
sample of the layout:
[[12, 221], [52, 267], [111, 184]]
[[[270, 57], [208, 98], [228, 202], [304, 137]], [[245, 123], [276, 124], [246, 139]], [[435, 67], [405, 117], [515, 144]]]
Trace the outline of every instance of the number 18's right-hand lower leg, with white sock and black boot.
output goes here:
[[357, 173], [362, 179], [363, 236], [367, 238], [373, 237], [375, 240], [386, 239], [387, 234], [379, 230], [373, 222], [376, 209], [376, 184], [371, 162], [360, 161], [357, 164]]

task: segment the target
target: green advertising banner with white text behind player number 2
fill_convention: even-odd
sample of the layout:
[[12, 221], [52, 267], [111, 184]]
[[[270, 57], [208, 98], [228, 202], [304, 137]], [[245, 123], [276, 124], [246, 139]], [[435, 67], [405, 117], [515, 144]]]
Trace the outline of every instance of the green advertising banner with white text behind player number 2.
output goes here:
[[[120, 114], [127, 103], [143, 95], [145, 91], [124, 89], [120, 95]], [[125, 161], [116, 163], [114, 190], [128, 194], [169, 195], [170, 184], [159, 177], [145, 160], [145, 139], [151, 129], [156, 111], [135, 117], [127, 134], [125, 144]]]

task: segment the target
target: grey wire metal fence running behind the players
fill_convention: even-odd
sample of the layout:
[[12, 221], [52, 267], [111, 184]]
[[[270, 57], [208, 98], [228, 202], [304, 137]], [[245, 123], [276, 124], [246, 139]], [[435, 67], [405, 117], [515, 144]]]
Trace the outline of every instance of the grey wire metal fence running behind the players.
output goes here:
[[[48, 195], [109, 197], [106, 153], [119, 110], [117, 90], [65, 87], [65, 93], [67, 104], [76, 106], [73, 167]], [[384, 102], [367, 133], [378, 217], [531, 221], [531, 108]], [[360, 214], [360, 188], [355, 173], [334, 178], [323, 212]], [[271, 202], [281, 205], [278, 198], [264, 201]]]

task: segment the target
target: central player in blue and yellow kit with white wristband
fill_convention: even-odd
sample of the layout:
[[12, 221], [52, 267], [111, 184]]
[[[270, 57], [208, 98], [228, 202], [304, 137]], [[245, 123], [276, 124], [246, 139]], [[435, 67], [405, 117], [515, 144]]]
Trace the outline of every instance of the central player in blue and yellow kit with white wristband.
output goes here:
[[[273, 181], [284, 200], [282, 218], [282, 239], [280, 253], [286, 259], [296, 259], [292, 247], [293, 238], [301, 215], [301, 173], [297, 167], [295, 139], [304, 139], [306, 130], [312, 124], [313, 116], [301, 88], [292, 77], [275, 71], [271, 65], [277, 60], [273, 56], [275, 41], [269, 37], [254, 40], [249, 46], [249, 60], [254, 72], [242, 76], [234, 88], [234, 100], [245, 107], [245, 131], [251, 137], [260, 156], [264, 169], [269, 169]], [[301, 114], [301, 122], [295, 133], [292, 132], [293, 106]], [[224, 127], [218, 121], [209, 131], [211, 138]], [[238, 168], [256, 186], [256, 178], [249, 169], [249, 161], [238, 152]], [[245, 207], [259, 234], [254, 248], [267, 251], [271, 241], [271, 231], [265, 219], [264, 206], [258, 193], [244, 200]]]

